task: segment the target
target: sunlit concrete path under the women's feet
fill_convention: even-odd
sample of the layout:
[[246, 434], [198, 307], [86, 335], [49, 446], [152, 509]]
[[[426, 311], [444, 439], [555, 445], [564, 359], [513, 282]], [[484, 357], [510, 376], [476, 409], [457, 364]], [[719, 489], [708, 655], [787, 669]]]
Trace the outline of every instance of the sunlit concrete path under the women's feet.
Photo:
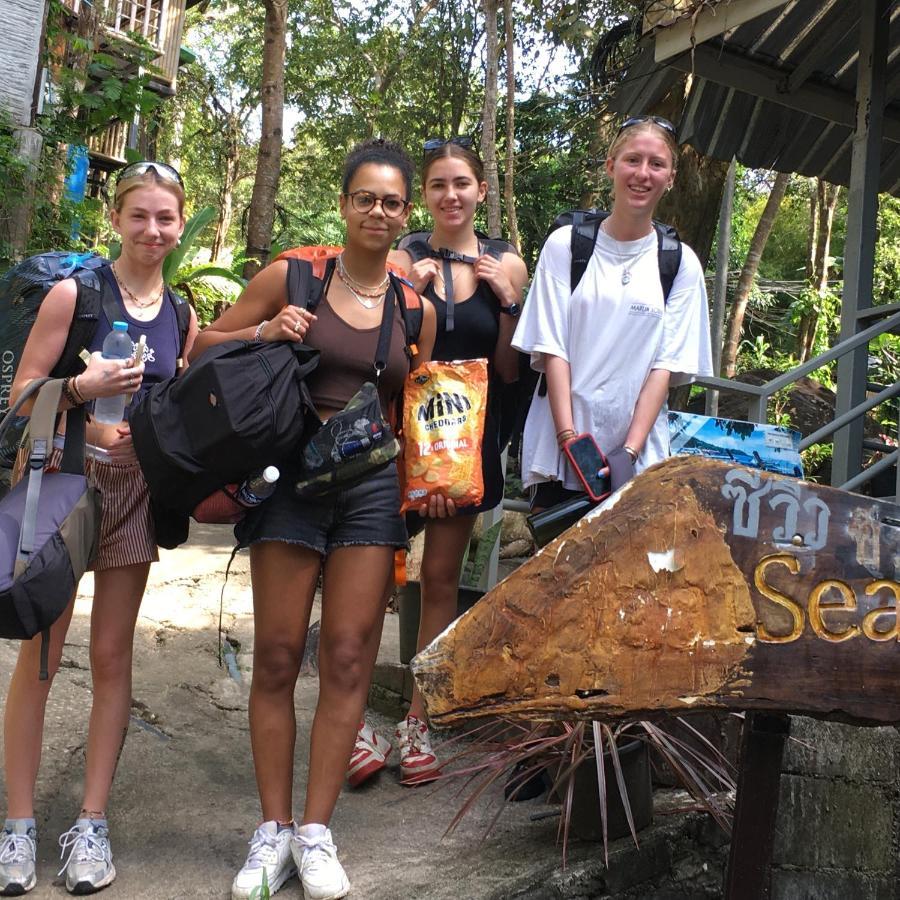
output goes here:
[[[238, 684], [216, 662], [219, 592], [231, 540], [226, 527], [194, 526], [190, 543], [164, 552], [153, 567], [135, 638], [131, 729], [110, 804], [119, 872], [104, 892], [110, 898], [229, 897], [231, 879], [257, 824], [247, 726], [253, 619], [246, 554], [232, 567], [224, 606], [225, 627], [243, 648], [238, 655], [243, 682]], [[79, 808], [84, 768], [91, 578], [81, 587], [63, 669], [47, 710], [37, 787], [39, 883], [29, 895], [36, 900], [68, 896], [56, 877], [56, 838]], [[396, 646], [396, 616], [389, 615], [382, 654], [396, 659]], [[4, 694], [16, 651], [17, 644], [0, 641]], [[298, 811], [317, 687], [312, 677], [302, 677], [297, 687]], [[390, 733], [392, 723], [378, 716], [373, 721]], [[498, 824], [484, 838], [499, 805], [498, 787], [445, 838], [460, 804], [457, 786], [401, 788], [396, 754], [392, 762], [372, 784], [345, 790], [332, 822], [353, 897], [458, 900], [510, 897], [525, 889], [538, 891], [530, 896], [558, 896], [540, 888], [558, 874], [557, 820], [532, 821], [534, 814], [552, 813], [552, 808], [534, 801], [505, 804]], [[601, 855], [594, 845], [573, 851], [576, 864], [595, 865]], [[286, 885], [278, 896], [301, 897], [299, 882]]]

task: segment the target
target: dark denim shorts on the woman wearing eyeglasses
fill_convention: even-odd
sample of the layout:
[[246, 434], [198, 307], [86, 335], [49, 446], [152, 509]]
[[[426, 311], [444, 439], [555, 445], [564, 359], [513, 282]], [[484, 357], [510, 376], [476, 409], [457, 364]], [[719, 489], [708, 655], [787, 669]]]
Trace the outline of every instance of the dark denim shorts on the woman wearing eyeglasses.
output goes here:
[[275, 493], [235, 526], [241, 546], [282, 541], [323, 556], [337, 547], [407, 546], [395, 463], [323, 497], [298, 497], [297, 480], [295, 472], [284, 472]]

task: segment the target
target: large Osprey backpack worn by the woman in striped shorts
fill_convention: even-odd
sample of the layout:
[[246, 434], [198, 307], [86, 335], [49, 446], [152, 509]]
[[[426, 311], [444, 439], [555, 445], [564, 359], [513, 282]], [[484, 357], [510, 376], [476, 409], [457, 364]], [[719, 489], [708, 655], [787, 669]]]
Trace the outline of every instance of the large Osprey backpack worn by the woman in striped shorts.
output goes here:
[[[30, 256], [0, 278], [0, 413], [8, 405], [13, 378], [41, 303], [50, 289], [65, 278], [75, 280], [78, 293], [65, 346], [50, 375], [64, 378], [84, 371], [81, 354], [97, 330], [100, 310], [106, 313], [110, 323], [121, 318], [112, 287], [99, 272], [108, 265], [109, 261], [96, 253], [53, 251]], [[167, 290], [166, 296], [175, 307], [180, 357], [191, 321], [191, 308], [172, 291]], [[27, 422], [27, 417], [23, 416], [10, 423], [7, 437], [0, 445], [0, 466], [12, 468]]]

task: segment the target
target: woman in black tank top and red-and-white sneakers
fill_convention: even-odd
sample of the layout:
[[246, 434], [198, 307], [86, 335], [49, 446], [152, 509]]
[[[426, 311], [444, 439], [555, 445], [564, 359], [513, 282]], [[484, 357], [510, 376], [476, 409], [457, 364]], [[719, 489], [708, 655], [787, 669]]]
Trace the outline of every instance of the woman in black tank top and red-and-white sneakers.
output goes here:
[[[434, 226], [424, 240], [393, 258], [408, 272], [415, 289], [434, 305], [437, 338], [432, 358], [487, 358], [493, 391], [498, 381], [518, 378], [518, 354], [510, 347], [510, 339], [528, 273], [516, 253], [488, 248], [475, 233], [475, 213], [487, 194], [487, 183], [471, 140], [431, 140], [424, 149], [422, 197]], [[484, 499], [478, 506], [456, 507], [451, 499], [438, 497], [420, 510], [425, 517], [425, 550], [418, 650], [456, 618], [460, 568], [475, 518], [503, 499], [496, 403], [489, 403], [482, 471]], [[433, 780], [440, 762], [431, 746], [418, 687], [413, 688], [410, 708], [398, 723], [395, 738], [401, 784]], [[383, 768], [388, 752], [388, 741], [364, 724], [348, 772], [350, 783], [359, 784]]]

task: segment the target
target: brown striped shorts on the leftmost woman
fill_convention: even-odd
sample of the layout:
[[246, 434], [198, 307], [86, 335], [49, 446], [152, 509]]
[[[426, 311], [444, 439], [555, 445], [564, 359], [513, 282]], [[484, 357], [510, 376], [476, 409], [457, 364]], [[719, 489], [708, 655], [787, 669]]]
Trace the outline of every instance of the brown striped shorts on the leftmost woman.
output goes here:
[[[21, 477], [28, 460], [28, 449], [19, 450], [13, 470], [13, 484]], [[47, 471], [58, 469], [62, 450], [54, 448]], [[90, 570], [101, 572], [136, 563], [156, 562], [159, 553], [150, 516], [150, 494], [141, 467], [94, 459], [84, 461], [85, 474], [100, 491], [100, 547]]]

